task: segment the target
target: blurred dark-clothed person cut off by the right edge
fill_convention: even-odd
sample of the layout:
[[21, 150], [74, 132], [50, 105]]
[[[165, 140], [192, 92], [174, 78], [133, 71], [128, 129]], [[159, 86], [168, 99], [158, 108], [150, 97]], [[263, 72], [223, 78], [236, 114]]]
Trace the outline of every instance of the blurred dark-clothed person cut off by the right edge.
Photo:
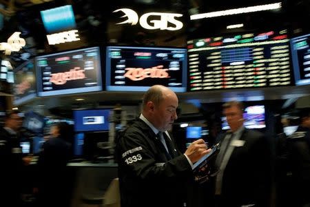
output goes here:
[[310, 197], [310, 108], [300, 109], [300, 126], [287, 138], [289, 168], [293, 178], [296, 207], [309, 207]]

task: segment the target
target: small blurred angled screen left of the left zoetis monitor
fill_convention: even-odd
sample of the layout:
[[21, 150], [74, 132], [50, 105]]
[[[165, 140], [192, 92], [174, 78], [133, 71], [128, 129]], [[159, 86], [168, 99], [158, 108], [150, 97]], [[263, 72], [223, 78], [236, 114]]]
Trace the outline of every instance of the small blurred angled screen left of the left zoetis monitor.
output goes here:
[[14, 68], [14, 105], [30, 101], [37, 96], [34, 61], [29, 60]]

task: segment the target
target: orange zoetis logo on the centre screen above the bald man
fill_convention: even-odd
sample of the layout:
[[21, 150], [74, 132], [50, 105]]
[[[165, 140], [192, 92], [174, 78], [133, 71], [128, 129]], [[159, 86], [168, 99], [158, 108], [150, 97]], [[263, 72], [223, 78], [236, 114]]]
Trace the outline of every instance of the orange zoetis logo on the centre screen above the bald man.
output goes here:
[[168, 69], [162, 69], [163, 66], [155, 66], [153, 68], [125, 68], [127, 72], [124, 77], [131, 79], [132, 81], [141, 81], [147, 77], [149, 78], [169, 78]]

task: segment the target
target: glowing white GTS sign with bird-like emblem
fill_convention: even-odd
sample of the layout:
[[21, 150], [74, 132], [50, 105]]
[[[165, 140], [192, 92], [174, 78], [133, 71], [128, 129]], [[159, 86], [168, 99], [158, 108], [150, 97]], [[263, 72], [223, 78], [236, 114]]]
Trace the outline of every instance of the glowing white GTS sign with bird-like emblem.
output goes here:
[[[149, 12], [143, 14], [139, 19], [138, 14], [134, 10], [121, 8], [114, 12], [118, 11], [123, 12], [125, 14], [123, 17], [127, 17], [128, 19], [116, 24], [131, 23], [132, 25], [136, 25], [139, 21], [140, 25], [147, 30], [180, 30], [180, 28], [183, 28], [183, 23], [174, 19], [176, 17], [182, 17], [183, 14]], [[148, 22], [152, 23], [152, 25]], [[168, 23], [171, 23], [174, 27], [168, 26]]]

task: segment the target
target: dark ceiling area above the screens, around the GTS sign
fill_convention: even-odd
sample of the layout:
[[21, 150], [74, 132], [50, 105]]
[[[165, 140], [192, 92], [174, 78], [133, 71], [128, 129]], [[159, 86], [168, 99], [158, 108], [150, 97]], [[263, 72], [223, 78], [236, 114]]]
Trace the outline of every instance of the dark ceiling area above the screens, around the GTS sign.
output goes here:
[[[229, 32], [265, 32], [268, 30], [289, 30], [289, 34], [309, 32], [310, 1], [285, 0], [280, 11], [254, 12], [237, 14], [212, 19], [189, 20], [190, 14], [214, 12], [232, 8], [258, 6], [279, 1], [203, 1], [203, 0], [130, 0], [130, 1], [27, 1], [0, 0], [4, 15], [0, 41], [6, 41], [12, 32], [20, 31], [27, 45], [21, 52], [14, 52], [10, 59], [13, 65], [20, 64], [23, 57], [30, 57], [41, 52], [56, 52], [85, 46], [121, 45], [177, 46], [185, 47], [187, 39], [217, 36]], [[106, 3], [106, 5], [101, 4]], [[81, 41], [48, 45], [46, 32], [41, 20], [40, 11], [71, 4], [76, 18], [77, 30]], [[145, 30], [141, 26], [116, 25], [122, 16], [121, 12], [113, 13], [118, 8], [131, 8], [140, 16], [146, 12], [175, 12], [183, 14], [181, 21], [184, 27], [178, 31]], [[244, 23], [244, 28], [227, 30], [229, 24]], [[24, 53], [27, 53], [25, 55]], [[1, 55], [3, 58], [3, 55]]]

